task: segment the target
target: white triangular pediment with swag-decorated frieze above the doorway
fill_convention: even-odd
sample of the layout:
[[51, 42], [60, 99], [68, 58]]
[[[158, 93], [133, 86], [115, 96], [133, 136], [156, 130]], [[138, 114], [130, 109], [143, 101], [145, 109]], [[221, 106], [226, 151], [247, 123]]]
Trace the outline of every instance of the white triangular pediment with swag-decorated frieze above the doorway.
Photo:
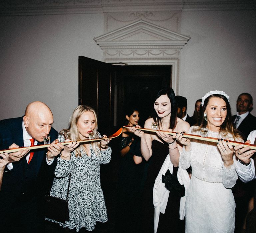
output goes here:
[[139, 20], [95, 37], [106, 61], [120, 59], [163, 59], [179, 56], [189, 36]]

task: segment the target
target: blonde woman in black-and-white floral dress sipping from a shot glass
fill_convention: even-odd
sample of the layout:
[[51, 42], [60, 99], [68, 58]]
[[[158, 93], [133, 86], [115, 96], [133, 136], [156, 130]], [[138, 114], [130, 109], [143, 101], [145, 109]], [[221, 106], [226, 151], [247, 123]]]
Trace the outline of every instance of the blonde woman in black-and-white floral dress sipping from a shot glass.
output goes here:
[[[69, 128], [62, 130], [58, 139], [60, 142], [85, 140], [89, 139], [89, 133], [92, 132], [95, 138], [101, 137], [97, 131], [96, 113], [91, 107], [80, 105], [70, 118]], [[109, 140], [103, 139], [94, 143], [70, 143], [57, 158], [56, 178], [50, 195], [66, 199], [70, 177], [69, 221], [64, 224], [59, 223], [66, 231], [74, 229], [78, 232], [82, 227], [92, 231], [96, 222], [107, 221], [106, 205], [100, 184], [100, 164], [110, 161], [111, 148], [108, 147], [108, 142]]]

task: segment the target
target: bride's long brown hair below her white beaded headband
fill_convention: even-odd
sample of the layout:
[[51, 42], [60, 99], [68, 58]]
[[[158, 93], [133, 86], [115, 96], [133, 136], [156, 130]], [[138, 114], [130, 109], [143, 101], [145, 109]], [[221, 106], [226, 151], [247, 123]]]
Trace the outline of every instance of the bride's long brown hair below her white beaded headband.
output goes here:
[[226, 103], [226, 106], [227, 106], [227, 116], [226, 116], [224, 122], [222, 123], [222, 125], [220, 126], [220, 132], [223, 133], [223, 136], [226, 136], [228, 133], [231, 133], [233, 135], [234, 139], [237, 138], [237, 137], [241, 137], [238, 130], [233, 127], [232, 116], [231, 116], [231, 108], [230, 108], [230, 104], [228, 103], [228, 99], [225, 96], [220, 95], [220, 94], [213, 94], [213, 95], [208, 96], [205, 99], [204, 106], [202, 108], [200, 108], [200, 118], [198, 120], [199, 128], [196, 128], [195, 131], [200, 130], [201, 127], [206, 127], [207, 120], [205, 120], [205, 118], [204, 118], [204, 112], [205, 112], [206, 107], [209, 103], [209, 100], [212, 97], [218, 97], [218, 98], [224, 100], [225, 103]]

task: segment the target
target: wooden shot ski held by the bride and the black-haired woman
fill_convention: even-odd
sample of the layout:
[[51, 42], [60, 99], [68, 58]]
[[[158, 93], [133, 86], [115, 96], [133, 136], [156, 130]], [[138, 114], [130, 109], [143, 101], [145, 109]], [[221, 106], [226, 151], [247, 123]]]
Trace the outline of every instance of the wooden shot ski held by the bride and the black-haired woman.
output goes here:
[[[124, 128], [129, 128], [131, 126], [124, 125], [123, 127]], [[173, 134], [176, 133], [176, 132], [169, 132], [169, 131], [166, 131], [166, 130], [155, 130], [155, 129], [150, 129], [150, 128], [139, 128], [139, 129], [142, 130], [142, 131], [149, 131], [149, 132], [161, 131], [161, 132], [165, 132], [165, 133], [170, 134], [170, 135], [173, 135]], [[184, 133], [184, 135], [185, 135], [185, 137], [194, 138], [194, 139], [198, 139], [198, 140], [202, 140], [202, 141], [211, 141], [211, 142], [216, 142], [216, 143], [218, 142], [218, 138], [215, 138], [215, 137], [202, 137], [200, 135], [194, 135], [194, 134], [189, 134], [189, 133]], [[239, 142], [239, 141], [231, 141], [231, 140], [228, 140], [228, 141], [233, 146], [243, 144], [244, 147], [249, 146], [251, 149], [256, 150], [256, 145], [253, 145], [253, 144], [249, 144], [249, 143], [245, 143], [245, 142]]]

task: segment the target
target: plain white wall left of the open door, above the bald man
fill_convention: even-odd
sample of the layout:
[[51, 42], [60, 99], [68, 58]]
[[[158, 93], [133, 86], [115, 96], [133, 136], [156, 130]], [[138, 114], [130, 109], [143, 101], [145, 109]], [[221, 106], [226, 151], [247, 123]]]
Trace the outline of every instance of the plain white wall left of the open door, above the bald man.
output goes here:
[[94, 42], [103, 15], [0, 17], [0, 119], [24, 114], [42, 101], [57, 130], [67, 127], [78, 105], [78, 56], [103, 59]]

